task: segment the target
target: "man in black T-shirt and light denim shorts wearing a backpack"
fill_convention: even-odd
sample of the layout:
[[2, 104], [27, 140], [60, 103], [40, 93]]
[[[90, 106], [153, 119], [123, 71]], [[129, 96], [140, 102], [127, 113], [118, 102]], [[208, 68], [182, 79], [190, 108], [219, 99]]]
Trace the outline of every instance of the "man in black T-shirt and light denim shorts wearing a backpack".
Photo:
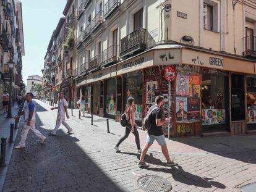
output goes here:
[[[166, 158], [166, 165], [172, 166], [176, 165], [173, 161], [171, 161], [168, 153], [168, 149], [166, 146], [166, 141], [164, 137], [164, 133], [162, 130], [162, 126], [165, 123], [169, 122], [169, 119], [166, 118], [165, 120], [162, 120], [162, 107], [164, 104], [164, 98], [163, 96], [157, 96], [156, 97], [156, 103], [155, 105], [150, 107], [150, 110], [148, 111], [148, 122], [150, 122], [150, 128], [148, 128], [148, 135], [147, 135], [147, 141], [142, 149], [142, 154], [140, 155], [140, 161], [139, 161], [139, 167], [149, 167], [144, 162], [145, 155], [147, 154], [148, 149], [153, 144], [153, 142], [156, 140], [157, 143], [161, 146], [162, 152], [164, 157]], [[147, 117], [146, 117], [147, 118]]]

